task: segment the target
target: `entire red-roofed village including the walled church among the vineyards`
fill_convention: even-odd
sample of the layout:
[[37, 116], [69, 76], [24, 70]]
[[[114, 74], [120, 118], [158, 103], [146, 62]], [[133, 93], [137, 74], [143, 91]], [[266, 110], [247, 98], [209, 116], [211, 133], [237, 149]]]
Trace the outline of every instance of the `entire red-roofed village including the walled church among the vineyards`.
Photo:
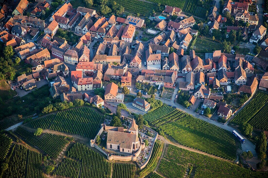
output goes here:
[[[36, 92], [46, 90], [50, 100], [44, 108], [83, 100], [105, 110], [90, 146], [109, 161], [136, 161], [140, 169], [163, 135], [162, 128], [152, 128], [156, 121], [140, 127], [135, 119], [159, 106], [237, 129], [232, 119], [268, 91], [267, 2], [200, 1], [199, 12], [190, 13], [189, 4], [185, 11], [158, 4], [161, 10], [155, 7], [148, 16], [118, 13], [114, 4], [128, 10], [119, 1], [98, 8], [95, 2], [82, 7], [67, 0], [0, 2], [0, 78], [7, 86], [0, 94], [10, 95], [1, 103], [15, 97], [24, 102], [31, 94], [41, 101]], [[54, 111], [39, 107], [20, 117], [31, 120]], [[121, 126], [113, 125], [115, 114]], [[7, 125], [15, 124], [18, 120]], [[253, 147], [248, 141], [241, 149]], [[256, 169], [256, 160], [250, 164]]]

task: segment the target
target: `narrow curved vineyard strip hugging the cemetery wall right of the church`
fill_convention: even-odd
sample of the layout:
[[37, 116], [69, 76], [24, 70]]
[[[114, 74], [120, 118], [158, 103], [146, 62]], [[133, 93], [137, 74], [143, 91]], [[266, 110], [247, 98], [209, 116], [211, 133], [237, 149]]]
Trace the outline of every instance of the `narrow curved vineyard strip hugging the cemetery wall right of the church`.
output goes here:
[[140, 172], [140, 177], [145, 177], [149, 173], [153, 172], [157, 167], [158, 160], [162, 154], [164, 144], [162, 142], [156, 141], [154, 148], [152, 150], [151, 158], [147, 166]]

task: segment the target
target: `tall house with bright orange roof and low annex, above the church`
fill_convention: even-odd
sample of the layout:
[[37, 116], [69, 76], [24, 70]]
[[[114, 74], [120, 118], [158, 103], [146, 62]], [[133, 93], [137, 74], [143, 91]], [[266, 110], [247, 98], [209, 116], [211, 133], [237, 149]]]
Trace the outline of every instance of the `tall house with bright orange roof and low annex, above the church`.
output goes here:
[[118, 93], [117, 84], [112, 82], [106, 86], [106, 90], [104, 93], [104, 100], [106, 102], [123, 103], [124, 102], [124, 94]]

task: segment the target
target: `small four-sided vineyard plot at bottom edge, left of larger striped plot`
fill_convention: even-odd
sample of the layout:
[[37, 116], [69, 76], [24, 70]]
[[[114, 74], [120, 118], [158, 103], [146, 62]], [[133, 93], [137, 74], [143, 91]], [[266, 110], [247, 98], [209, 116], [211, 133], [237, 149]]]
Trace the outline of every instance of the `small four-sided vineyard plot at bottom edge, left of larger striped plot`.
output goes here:
[[80, 170], [79, 161], [66, 158], [61, 162], [61, 164], [55, 171], [54, 176], [78, 178], [79, 170]]

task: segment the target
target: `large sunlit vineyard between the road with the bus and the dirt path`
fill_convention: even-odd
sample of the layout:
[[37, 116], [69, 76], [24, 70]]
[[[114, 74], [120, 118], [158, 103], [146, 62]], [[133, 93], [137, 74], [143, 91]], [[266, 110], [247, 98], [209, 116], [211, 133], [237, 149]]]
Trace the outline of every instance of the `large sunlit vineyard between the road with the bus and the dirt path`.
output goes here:
[[167, 105], [147, 113], [144, 119], [178, 143], [228, 160], [236, 159], [232, 133]]

